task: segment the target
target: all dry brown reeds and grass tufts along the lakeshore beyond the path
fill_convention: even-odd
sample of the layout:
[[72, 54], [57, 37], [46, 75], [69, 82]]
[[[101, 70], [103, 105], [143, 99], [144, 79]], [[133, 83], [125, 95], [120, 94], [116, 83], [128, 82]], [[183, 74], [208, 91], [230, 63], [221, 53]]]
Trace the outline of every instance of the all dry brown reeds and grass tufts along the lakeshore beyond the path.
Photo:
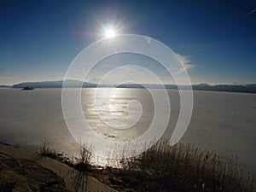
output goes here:
[[[90, 173], [119, 191], [253, 192], [255, 186], [255, 177], [249, 174], [246, 177], [244, 166], [239, 166], [236, 160], [190, 143], [170, 146], [162, 139], [143, 154], [120, 160], [122, 168], [107, 165], [102, 169], [91, 165], [91, 148], [85, 143], [80, 146], [79, 158], [68, 166]], [[56, 159], [55, 151], [46, 140], [40, 152]]]

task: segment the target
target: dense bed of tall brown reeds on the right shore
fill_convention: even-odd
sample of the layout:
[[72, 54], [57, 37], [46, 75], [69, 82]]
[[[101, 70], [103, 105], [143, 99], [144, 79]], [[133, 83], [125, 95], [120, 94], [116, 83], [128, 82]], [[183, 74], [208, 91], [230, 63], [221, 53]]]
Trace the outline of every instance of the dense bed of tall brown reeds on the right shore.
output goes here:
[[[244, 178], [244, 166], [239, 166], [236, 160], [189, 143], [171, 147], [162, 139], [138, 157], [122, 162], [125, 170], [146, 172], [153, 177], [159, 182], [156, 190], [252, 192], [255, 185], [254, 177]], [[166, 183], [174, 183], [172, 190], [165, 187]]]

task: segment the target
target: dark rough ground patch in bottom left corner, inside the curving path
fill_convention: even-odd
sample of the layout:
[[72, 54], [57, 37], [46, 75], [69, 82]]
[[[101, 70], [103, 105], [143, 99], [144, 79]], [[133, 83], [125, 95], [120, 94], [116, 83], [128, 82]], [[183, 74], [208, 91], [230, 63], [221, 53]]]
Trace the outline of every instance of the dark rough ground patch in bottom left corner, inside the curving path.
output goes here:
[[70, 192], [60, 176], [33, 160], [0, 153], [0, 170], [0, 191], [3, 192]]

